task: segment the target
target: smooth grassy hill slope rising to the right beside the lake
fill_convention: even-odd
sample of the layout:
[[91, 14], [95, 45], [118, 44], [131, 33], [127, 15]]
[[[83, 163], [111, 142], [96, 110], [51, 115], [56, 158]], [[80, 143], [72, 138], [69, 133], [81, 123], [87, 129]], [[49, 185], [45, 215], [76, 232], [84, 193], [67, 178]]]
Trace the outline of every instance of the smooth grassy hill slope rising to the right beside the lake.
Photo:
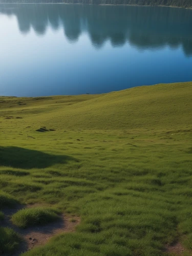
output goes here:
[[52, 119], [61, 127], [81, 129], [180, 129], [191, 124], [191, 87], [192, 83], [159, 84], [113, 92], [48, 113], [44, 122]]

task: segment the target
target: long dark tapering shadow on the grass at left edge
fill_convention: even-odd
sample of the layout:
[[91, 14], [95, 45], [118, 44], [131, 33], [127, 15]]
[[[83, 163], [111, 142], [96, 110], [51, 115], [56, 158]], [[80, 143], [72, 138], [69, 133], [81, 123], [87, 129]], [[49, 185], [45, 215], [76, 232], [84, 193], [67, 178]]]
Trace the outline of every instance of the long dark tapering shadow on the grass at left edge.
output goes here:
[[50, 155], [41, 151], [28, 150], [23, 147], [0, 146], [0, 165], [13, 168], [46, 168], [57, 163], [68, 161], [78, 162], [77, 159], [66, 155]]

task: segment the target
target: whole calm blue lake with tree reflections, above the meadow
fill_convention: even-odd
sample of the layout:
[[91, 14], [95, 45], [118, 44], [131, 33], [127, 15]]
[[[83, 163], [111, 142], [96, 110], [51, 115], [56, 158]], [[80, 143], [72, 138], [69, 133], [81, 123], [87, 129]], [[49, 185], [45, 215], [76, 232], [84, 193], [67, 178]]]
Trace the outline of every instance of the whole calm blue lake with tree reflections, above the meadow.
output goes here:
[[192, 80], [192, 10], [0, 5], [0, 95], [95, 94]]

